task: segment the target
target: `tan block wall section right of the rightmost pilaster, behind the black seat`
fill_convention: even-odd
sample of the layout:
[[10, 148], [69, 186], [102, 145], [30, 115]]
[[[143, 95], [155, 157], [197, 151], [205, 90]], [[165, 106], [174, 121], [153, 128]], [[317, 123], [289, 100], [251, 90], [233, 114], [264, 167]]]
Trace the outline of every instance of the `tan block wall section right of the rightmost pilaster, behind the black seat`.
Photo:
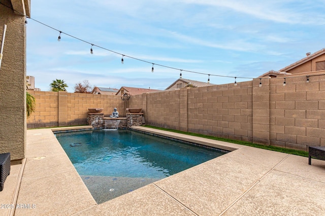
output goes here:
[[325, 75], [270, 80], [271, 145], [325, 146]]

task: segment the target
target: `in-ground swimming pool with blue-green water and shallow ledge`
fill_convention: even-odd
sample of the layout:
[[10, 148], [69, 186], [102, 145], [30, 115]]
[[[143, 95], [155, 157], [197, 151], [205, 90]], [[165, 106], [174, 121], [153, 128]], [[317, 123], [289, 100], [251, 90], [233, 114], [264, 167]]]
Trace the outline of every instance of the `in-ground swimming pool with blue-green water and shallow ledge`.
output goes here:
[[225, 154], [127, 129], [56, 138], [98, 203]]

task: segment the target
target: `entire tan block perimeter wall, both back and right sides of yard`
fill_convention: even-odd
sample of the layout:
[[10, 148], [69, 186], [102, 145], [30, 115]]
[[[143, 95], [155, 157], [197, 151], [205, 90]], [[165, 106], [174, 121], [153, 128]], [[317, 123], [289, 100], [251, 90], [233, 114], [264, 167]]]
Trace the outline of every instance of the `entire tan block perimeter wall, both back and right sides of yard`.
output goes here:
[[[258, 86], [259, 79], [254, 79], [237, 82], [236, 87], [230, 83], [146, 93], [132, 96], [127, 107], [141, 107], [148, 125], [306, 151], [311, 145], [325, 146], [325, 75], [321, 73], [325, 71], [309, 76], [309, 83], [306, 76], [289, 76], [285, 87], [283, 78], [272, 78], [263, 79], [262, 87]], [[34, 120], [47, 120], [41, 113], [44, 106], [56, 108], [51, 103], [56, 103], [55, 97], [60, 98], [61, 93], [44, 100], [52, 94], [36, 93], [42, 99], [37, 99]], [[87, 107], [104, 107], [106, 116], [115, 106], [119, 113], [124, 108], [118, 96], [62, 96], [70, 98], [63, 106], [69, 111], [53, 111], [54, 122], [61, 119], [69, 125], [86, 124]], [[74, 115], [69, 114], [72, 112]]]

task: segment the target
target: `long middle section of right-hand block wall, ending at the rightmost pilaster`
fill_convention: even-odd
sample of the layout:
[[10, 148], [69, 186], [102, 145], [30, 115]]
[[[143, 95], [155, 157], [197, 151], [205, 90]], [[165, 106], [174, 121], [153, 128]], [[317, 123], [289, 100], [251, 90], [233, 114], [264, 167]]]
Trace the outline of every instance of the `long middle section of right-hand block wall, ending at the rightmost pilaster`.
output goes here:
[[149, 93], [146, 117], [150, 125], [252, 141], [252, 82]]

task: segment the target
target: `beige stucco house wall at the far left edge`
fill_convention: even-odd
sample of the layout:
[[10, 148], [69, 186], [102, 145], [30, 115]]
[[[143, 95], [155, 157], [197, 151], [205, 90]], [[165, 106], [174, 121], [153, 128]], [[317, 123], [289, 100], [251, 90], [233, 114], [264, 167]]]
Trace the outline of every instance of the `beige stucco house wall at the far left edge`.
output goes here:
[[[11, 6], [8, 0], [2, 3]], [[21, 1], [20, 3], [21, 5], [13, 3], [13, 7], [24, 12], [23, 4]], [[24, 21], [25, 17], [0, 5], [1, 39], [4, 24], [7, 25], [0, 69], [0, 153], [10, 152], [12, 160], [22, 159], [25, 155], [26, 29]]]

